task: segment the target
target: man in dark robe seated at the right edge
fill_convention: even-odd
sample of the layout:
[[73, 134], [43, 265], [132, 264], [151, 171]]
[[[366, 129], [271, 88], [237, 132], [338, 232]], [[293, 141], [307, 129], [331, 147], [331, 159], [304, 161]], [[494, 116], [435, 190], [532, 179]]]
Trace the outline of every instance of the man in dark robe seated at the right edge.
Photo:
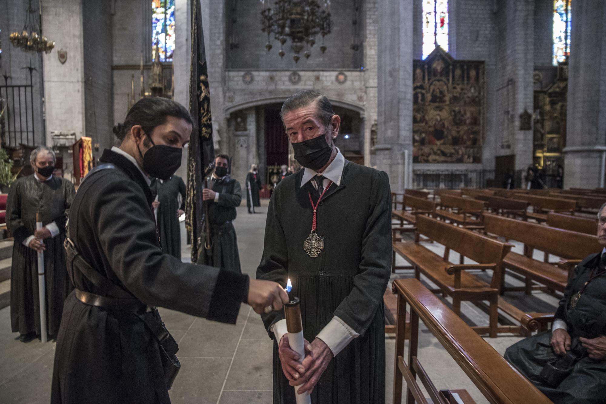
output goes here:
[[[604, 247], [605, 206], [596, 220], [598, 241]], [[568, 281], [551, 330], [523, 339], [505, 352], [505, 359], [555, 404], [606, 402], [605, 263], [606, 248], [587, 256]], [[563, 380], [548, 382], [541, 376], [545, 365], [554, 364], [567, 354], [575, 359], [570, 373], [562, 375]]]

